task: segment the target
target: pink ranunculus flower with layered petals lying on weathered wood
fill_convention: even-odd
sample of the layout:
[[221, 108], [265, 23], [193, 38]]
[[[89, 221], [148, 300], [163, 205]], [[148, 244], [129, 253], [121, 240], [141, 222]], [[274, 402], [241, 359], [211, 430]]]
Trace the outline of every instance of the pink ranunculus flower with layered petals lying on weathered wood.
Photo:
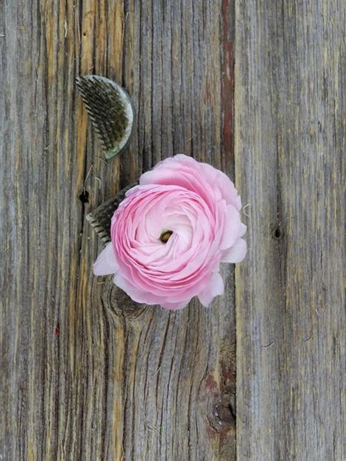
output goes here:
[[224, 292], [220, 263], [245, 257], [241, 207], [226, 174], [182, 154], [167, 158], [116, 209], [94, 274], [114, 274], [138, 303], [182, 309], [197, 296], [208, 306]]

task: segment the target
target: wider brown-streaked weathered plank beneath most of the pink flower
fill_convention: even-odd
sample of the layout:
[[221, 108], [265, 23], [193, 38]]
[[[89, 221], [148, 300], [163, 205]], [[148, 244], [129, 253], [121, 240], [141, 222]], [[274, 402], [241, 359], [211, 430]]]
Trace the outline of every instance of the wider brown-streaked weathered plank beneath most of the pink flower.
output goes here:
[[[0, 2], [1, 460], [235, 459], [233, 268], [209, 310], [138, 308], [84, 220], [174, 153], [233, 177], [233, 23], [227, 0]], [[109, 163], [89, 73], [138, 113]]]

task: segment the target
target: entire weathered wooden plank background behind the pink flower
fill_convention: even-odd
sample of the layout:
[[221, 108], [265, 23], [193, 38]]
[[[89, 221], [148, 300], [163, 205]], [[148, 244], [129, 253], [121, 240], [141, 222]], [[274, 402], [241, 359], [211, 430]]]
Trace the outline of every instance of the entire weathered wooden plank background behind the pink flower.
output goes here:
[[[345, 10], [0, 1], [1, 461], [346, 459]], [[108, 164], [87, 73], [138, 113]], [[84, 216], [179, 152], [235, 179], [248, 256], [208, 310], [138, 308]]]

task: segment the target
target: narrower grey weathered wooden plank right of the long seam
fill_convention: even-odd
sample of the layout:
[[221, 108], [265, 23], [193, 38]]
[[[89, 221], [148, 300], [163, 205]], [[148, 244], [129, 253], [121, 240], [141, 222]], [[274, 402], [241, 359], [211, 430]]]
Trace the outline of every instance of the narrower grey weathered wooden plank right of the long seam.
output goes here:
[[237, 459], [346, 459], [345, 2], [236, 0]]

